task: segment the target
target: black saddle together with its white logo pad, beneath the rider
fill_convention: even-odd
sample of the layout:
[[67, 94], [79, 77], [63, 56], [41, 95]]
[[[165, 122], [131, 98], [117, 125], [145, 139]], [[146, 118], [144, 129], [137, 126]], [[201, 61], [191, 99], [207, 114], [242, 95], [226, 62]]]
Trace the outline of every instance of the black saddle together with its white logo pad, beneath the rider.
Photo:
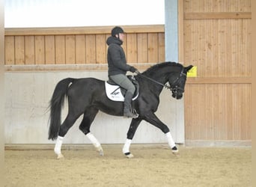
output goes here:
[[[135, 85], [135, 92], [132, 97], [132, 100], [135, 100], [138, 97], [138, 90], [139, 90], [138, 81], [134, 78], [134, 76], [127, 76], [127, 78], [132, 82], [133, 85]], [[124, 96], [125, 96], [125, 93], [127, 93], [126, 89], [121, 88], [121, 86], [117, 85], [111, 79], [105, 82], [105, 91], [108, 98], [111, 99], [112, 101], [122, 101], [122, 102], [124, 102]]]

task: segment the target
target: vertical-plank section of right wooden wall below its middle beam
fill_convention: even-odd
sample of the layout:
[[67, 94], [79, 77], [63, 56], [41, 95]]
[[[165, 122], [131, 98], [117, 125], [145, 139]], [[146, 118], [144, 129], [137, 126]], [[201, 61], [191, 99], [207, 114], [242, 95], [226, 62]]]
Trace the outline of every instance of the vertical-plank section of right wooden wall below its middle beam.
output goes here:
[[186, 139], [250, 139], [250, 93], [250, 84], [186, 85]]

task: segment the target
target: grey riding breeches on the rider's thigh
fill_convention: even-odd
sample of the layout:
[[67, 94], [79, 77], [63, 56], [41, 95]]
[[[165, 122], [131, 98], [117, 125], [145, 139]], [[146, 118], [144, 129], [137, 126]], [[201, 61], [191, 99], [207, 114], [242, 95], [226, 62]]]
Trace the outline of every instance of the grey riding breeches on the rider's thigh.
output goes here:
[[134, 93], [135, 92], [135, 86], [132, 84], [132, 82], [127, 78], [127, 76], [123, 74], [118, 74], [115, 76], [109, 76], [112, 81], [114, 81], [116, 84], [120, 85], [122, 88], [125, 88], [127, 92]]

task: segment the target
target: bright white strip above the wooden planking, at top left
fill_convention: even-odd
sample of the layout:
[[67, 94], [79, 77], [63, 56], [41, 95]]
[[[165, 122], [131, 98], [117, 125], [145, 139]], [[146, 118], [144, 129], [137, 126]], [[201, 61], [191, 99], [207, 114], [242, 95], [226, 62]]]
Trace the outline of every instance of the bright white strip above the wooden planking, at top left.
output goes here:
[[156, 25], [164, 0], [7, 0], [5, 28]]

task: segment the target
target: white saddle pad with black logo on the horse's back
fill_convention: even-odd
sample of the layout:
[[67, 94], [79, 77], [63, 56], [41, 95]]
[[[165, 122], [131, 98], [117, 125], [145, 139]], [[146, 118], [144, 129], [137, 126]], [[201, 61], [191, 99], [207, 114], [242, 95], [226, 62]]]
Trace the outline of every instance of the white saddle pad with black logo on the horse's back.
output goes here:
[[[110, 85], [108, 82], [105, 82], [106, 96], [112, 101], [122, 101], [124, 102], [124, 95], [121, 92], [119, 85]], [[138, 94], [132, 98], [132, 100], [137, 99]]]

